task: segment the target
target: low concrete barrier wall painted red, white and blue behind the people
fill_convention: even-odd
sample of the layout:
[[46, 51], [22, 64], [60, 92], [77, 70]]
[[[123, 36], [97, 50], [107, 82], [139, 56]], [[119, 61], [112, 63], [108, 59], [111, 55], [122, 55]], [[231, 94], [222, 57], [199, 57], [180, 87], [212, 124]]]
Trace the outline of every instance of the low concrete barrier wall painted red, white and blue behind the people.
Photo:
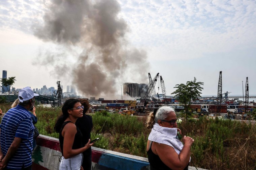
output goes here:
[[[32, 153], [32, 169], [57, 170], [62, 156], [59, 139], [39, 135]], [[150, 170], [147, 158], [92, 147], [92, 170]], [[189, 167], [194, 170], [194, 167]], [[202, 170], [201, 168], [197, 168]]]

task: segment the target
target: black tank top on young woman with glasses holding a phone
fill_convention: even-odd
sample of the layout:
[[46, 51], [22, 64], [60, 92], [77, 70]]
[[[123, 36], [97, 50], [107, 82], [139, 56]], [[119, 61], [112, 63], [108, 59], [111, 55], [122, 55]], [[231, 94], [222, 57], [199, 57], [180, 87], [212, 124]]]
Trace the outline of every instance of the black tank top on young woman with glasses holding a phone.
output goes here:
[[[61, 149], [62, 155], [63, 155], [63, 140], [64, 140], [64, 137], [61, 135], [61, 133], [62, 133], [62, 130], [63, 130], [64, 126], [66, 124], [68, 124], [69, 122], [71, 122], [71, 121], [66, 121], [62, 124], [61, 129], [60, 129], [60, 133], [59, 133], [60, 149]], [[73, 122], [71, 122], [71, 123], [73, 123]], [[76, 134], [75, 134], [72, 149], [79, 149], [79, 148], [83, 147], [82, 137], [83, 137], [83, 135], [82, 135], [81, 131], [79, 130], [78, 127], [76, 127]]]

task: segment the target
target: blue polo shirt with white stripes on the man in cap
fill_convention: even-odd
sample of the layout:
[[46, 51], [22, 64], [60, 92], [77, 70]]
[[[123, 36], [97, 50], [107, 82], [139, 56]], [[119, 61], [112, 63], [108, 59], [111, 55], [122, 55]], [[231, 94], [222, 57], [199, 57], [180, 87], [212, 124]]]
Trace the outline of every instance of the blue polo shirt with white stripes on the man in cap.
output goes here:
[[32, 164], [32, 142], [34, 135], [34, 125], [27, 109], [18, 105], [5, 113], [1, 125], [1, 150], [6, 155], [14, 137], [22, 138], [21, 144], [16, 153], [7, 163], [8, 169], [22, 169]]

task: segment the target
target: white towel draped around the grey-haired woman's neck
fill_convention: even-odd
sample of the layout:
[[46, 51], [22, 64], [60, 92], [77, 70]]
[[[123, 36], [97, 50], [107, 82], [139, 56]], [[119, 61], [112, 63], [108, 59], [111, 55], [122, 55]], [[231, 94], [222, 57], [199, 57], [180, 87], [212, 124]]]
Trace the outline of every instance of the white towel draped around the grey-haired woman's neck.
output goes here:
[[177, 128], [163, 127], [155, 123], [149, 134], [149, 140], [171, 146], [179, 155], [183, 144], [176, 136]]

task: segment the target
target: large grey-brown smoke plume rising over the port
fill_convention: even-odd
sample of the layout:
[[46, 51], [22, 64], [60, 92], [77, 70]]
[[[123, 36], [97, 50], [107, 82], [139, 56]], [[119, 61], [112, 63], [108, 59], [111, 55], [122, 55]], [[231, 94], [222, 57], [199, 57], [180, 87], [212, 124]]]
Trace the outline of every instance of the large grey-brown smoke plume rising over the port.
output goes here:
[[116, 85], [123, 82], [146, 82], [147, 54], [128, 46], [128, 26], [118, 17], [119, 12], [116, 0], [54, 0], [44, 15], [44, 25], [36, 26], [34, 34], [63, 46], [71, 55], [74, 46], [84, 50], [77, 55], [75, 64], [63, 51], [45, 52], [40, 64], [51, 63], [57, 76], [69, 75], [86, 96], [106, 97], [115, 94]]

